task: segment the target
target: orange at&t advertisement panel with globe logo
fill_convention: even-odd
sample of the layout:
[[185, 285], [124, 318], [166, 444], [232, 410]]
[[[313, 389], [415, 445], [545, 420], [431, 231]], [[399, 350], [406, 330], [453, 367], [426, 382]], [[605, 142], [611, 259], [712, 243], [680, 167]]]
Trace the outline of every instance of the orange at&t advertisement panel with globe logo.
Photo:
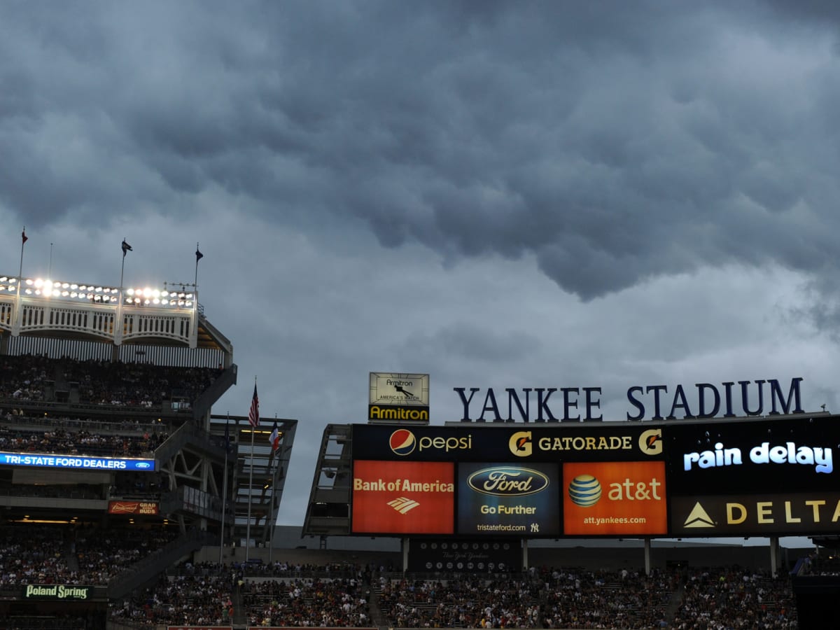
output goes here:
[[570, 536], [668, 533], [664, 462], [564, 464], [563, 530]]

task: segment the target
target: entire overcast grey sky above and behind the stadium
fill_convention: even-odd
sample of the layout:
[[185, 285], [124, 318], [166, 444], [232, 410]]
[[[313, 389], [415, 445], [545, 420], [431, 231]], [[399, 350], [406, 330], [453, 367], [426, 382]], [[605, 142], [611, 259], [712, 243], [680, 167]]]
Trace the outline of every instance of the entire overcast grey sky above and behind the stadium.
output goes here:
[[0, 3], [4, 273], [192, 281], [214, 412], [299, 420], [281, 523], [370, 371], [802, 377], [840, 412], [836, 3]]

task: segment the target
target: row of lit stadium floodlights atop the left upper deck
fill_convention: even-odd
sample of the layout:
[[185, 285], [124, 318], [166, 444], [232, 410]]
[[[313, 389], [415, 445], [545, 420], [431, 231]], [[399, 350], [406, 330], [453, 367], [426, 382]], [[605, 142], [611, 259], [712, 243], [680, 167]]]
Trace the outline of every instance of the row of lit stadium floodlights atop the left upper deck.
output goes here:
[[[0, 293], [17, 292], [18, 279], [0, 276]], [[119, 301], [117, 286], [80, 285], [43, 278], [26, 278], [21, 284], [21, 295], [31, 297], [58, 297], [66, 300], [85, 300], [97, 304], [116, 304]], [[123, 303], [130, 306], [192, 308], [195, 295], [189, 291], [160, 291], [158, 289], [128, 288], [123, 292]]]

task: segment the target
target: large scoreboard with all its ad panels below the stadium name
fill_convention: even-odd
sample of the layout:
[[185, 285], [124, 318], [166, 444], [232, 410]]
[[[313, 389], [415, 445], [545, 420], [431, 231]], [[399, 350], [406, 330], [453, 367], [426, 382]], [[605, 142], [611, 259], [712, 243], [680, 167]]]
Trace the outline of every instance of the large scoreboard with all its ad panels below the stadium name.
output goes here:
[[840, 533], [837, 419], [357, 424], [351, 531], [494, 540]]

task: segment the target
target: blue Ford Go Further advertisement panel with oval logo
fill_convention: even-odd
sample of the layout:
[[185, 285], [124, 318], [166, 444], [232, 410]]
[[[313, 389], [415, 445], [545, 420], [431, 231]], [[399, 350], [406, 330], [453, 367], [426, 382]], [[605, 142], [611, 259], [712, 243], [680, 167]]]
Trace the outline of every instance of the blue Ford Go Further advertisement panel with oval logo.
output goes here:
[[560, 535], [559, 465], [458, 465], [458, 533]]

